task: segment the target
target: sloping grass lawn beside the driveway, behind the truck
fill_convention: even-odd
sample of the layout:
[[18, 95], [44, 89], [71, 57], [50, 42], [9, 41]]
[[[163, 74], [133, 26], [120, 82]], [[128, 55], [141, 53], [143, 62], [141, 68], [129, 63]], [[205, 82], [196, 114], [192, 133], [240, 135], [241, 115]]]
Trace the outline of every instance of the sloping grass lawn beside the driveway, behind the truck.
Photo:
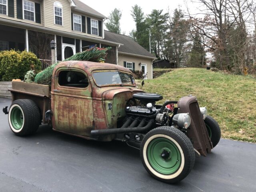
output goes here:
[[199, 105], [206, 106], [219, 123], [223, 138], [256, 142], [256, 79], [252, 76], [181, 68], [144, 82], [142, 90], [164, 97], [158, 103], [197, 96]]

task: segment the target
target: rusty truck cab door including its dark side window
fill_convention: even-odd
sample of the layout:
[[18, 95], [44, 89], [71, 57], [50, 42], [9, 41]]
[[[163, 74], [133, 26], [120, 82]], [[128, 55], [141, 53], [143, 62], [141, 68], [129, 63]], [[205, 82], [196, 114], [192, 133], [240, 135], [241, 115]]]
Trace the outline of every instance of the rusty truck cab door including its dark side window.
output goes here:
[[93, 128], [92, 89], [87, 74], [76, 68], [59, 68], [54, 78], [53, 128], [90, 136]]

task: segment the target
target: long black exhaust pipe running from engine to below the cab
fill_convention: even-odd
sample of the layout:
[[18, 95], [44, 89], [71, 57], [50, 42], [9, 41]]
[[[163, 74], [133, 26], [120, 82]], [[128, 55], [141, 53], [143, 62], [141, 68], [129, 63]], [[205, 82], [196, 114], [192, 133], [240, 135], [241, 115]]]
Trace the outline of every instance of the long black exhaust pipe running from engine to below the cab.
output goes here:
[[146, 119], [142, 119], [138, 127], [92, 130], [91, 136], [102, 136], [102, 135], [111, 135], [111, 134], [128, 133], [128, 132], [144, 132], [152, 127], [154, 120], [149, 120], [146, 126], [140, 127], [140, 125], [143, 125], [145, 122], [146, 122]]

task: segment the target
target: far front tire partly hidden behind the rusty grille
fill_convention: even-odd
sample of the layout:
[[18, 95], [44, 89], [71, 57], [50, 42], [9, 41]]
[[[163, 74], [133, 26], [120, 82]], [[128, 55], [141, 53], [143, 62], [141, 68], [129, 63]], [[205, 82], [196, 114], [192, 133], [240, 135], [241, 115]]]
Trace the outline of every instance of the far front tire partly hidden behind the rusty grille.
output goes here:
[[211, 116], [207, 116], [204, 120], [206, 130], [208, 132], [208, 136], [212, 141], [212, 146], [215, 147], [218, 142], [220, 141], [221, 137], [221, 131], [220, 131], [220, 126], [214, 118]]

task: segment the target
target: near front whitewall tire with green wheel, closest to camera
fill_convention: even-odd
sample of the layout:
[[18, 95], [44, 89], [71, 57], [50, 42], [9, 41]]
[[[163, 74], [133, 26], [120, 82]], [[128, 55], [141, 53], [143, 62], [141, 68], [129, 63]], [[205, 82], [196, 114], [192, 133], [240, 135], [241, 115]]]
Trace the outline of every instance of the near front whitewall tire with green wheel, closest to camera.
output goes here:
[[180, 130], [168, 126], [155, 128], [146, 134], [140, 156], [148, 173], [167, 183], [184, 179], [195, 162], [194, 148], [189, 138]]

